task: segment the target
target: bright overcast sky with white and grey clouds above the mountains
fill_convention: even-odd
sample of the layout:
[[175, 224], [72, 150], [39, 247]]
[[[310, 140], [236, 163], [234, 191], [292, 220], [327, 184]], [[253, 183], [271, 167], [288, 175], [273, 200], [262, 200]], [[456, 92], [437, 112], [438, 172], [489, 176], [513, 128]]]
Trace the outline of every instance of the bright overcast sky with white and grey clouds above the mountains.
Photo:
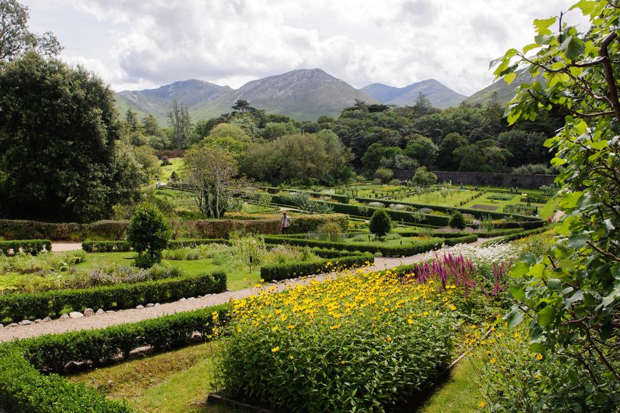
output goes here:
[[[30, 29], [114, 90], [203, 79], [238, 88], [321, 68], [355, 88], [437, 79], [472, 94], [488, 62], [533, 41], [532, 21], [564, 0], [21, 0]], [[583, 23], [579, 12], [566, 21]], [[582, 28], [583, 29], [583, 28]]]

